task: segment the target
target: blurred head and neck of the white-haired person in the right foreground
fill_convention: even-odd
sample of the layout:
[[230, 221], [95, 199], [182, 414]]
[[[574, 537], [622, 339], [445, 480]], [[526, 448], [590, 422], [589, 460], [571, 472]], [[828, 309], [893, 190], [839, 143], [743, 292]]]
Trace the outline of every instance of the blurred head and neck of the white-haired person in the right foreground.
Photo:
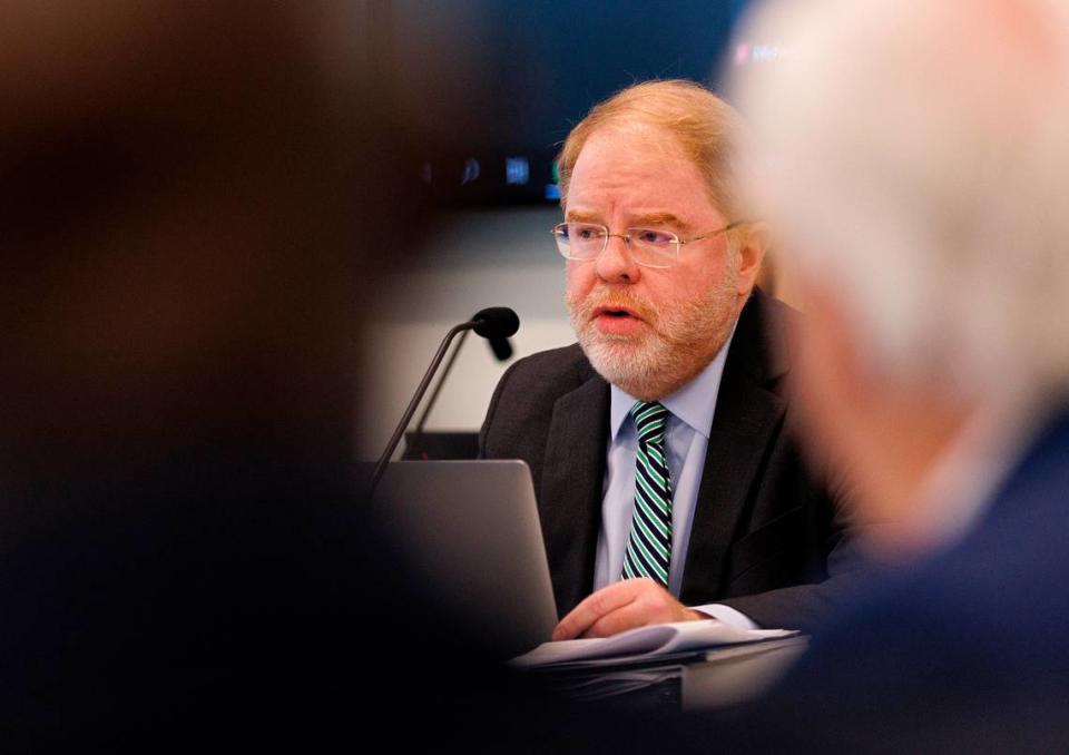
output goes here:
[[807, 420], [898, 523], [876, 543], [924, 547], [960, 524], [948, 451], [998, 458], [1069, 388], [1066, 6], [773, 2], [746, 33], [783, 50], [734, 94], [810, 313]]

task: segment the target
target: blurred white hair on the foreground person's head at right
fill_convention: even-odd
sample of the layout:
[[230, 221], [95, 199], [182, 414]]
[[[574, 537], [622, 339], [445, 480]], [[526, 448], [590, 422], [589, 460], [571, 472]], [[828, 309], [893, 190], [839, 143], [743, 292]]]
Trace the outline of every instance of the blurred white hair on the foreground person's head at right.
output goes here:
[[866, 367], [1069, 386], [1069, 1], [781, 0], [729, 90], [744, 190], [832, 283]]

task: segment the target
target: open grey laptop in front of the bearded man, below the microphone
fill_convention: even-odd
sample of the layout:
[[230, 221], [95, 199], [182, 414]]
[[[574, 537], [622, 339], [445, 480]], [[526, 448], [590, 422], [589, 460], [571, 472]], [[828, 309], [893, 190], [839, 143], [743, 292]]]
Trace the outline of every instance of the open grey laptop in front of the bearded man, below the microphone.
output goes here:
[[392, 462], [374, 506], [416, 599], [501, 658], [550, 639], [557, 607], [524, 462]]

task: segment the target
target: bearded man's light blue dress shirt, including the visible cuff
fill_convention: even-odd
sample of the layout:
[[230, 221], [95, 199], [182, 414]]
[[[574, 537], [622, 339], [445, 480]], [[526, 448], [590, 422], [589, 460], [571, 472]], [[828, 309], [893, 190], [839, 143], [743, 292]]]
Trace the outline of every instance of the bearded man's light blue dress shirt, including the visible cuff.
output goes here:
[[[679, 597], [683, 586], [683, 567], [687, 561], [690, 527], [698, 498], [698, 486], [705, 470], [705, 452], [709, 443], [709, 429], [716, 412], [716, 398], [724, 374], [724, 363], [735, 331], [716, 357], [678, 391], [660, 400], [670, 412], [665, 431], [665, 451], [668, 455], [668, 473], [671, 477], [671, 566], [668, 571], [668, 591]], [[616, 385], [611, 386], [609, 409], [609, 447], [606, 464], [605, 491], [601, 499], [601, 531], [594, 570], [596, 590], [618, 581], [624, 568], [624, 551], [631, 531], [631, 507], [635, 501], [635, 454], [638, 437], [630, 411], [636, 399]], [[756, 625], [745, 615], [714, 604], [694, 606], [714, 618], [741, 628]]]

